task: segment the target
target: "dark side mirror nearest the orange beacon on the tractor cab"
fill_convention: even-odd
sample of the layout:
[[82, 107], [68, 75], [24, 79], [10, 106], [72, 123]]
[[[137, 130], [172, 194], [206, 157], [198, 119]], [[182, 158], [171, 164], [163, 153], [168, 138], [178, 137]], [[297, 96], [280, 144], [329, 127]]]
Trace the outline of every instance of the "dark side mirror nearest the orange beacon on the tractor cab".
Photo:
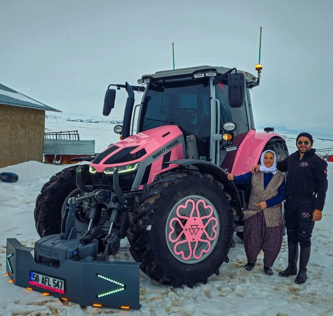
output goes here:
[[228, 99], [231, 108], [240, 108], [245, 97], [246, 82], [243, 73], [229, 74]]

